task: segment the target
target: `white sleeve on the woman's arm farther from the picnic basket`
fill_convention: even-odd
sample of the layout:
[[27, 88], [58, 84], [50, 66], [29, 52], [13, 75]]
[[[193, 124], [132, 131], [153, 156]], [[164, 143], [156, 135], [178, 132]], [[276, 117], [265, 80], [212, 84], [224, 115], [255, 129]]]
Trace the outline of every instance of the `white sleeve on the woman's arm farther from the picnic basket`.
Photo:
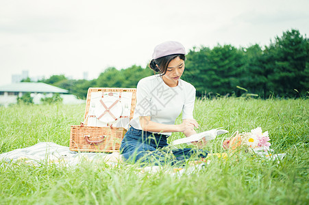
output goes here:
[[185, 90], [185, 101], [184, 101], [184, 107], [182, 109], [182, 119], [193, 119], [193, 109], [194, 109], [194, 103], [195, 103], [195, 87], [191, 84], [189, 84], [190, 87], [187, 87]]

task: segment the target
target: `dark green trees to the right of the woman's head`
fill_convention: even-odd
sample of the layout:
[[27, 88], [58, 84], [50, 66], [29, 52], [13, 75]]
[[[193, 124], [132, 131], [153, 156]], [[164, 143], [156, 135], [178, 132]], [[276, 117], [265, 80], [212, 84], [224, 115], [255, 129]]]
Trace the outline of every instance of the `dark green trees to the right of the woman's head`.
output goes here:
[[254, 44], [236, 49], [232, 45], [202, 47], [187, 55], [185, 80], [203, 94], [247, 92], [262, 98], [269, 95], [297, 97], [309, 91], [309, 43], [298, 30], [276, 37], [269, 46]]

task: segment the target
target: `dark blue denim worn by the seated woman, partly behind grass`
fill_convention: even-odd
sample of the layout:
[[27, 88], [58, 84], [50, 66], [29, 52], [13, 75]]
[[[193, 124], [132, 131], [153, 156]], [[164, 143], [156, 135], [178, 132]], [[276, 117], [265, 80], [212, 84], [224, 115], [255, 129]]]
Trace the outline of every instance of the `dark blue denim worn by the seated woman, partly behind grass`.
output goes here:
[[205, 158], [205, 150], [169, 146], [167, 135], [138, 130], [130, 126], [121, 141], [120, 151], [129, 163], [151, 163], [152, 165], [184, 165], [190, 158]]

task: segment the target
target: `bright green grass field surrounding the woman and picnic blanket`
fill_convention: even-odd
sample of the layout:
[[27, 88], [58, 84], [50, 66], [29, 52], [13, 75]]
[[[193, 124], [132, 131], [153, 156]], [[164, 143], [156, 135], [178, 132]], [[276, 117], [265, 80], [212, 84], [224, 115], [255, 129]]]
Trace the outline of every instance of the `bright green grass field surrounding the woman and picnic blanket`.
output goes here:
[[[84, 105], [0, 107], [0, 154], [41, 141], [69, 146], [71, 124], [84, 117]], [[229, 134], [206, 150], [225, 152], [221, 143], [234, 131], [261, 126], [282, 161], [250, 154], [210, 164], [190, 175], [137, 174], [138, 165], [82, 163], [75, 169], [0, 162], [0, 204], [308, 204], [309, 100], [218, 98], [197, 100], [198, 132], [222, 127]], [[177, 119], [180, 122], [180, 118]], [[171, 139], [184, 137], [174, 133]], [[181, 147], [181, 146], [180, 146]], [[184, 147], [184, 146], [182, 146]]]

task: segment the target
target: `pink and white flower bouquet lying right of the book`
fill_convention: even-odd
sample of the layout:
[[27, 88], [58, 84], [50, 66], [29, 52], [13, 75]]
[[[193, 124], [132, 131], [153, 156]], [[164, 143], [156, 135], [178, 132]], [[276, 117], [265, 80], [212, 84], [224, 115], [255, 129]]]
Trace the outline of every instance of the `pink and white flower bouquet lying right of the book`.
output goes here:
[[232, 151], [245, 148], [247, 152], [267, 152], [271, 146], [269, 140], [268, 131], [262, 133], [262, 128], [258, 127], [251, 130], [250, 133], [239, 133], [236, 131], [232, 137], [223, 141], [223, 148]]

